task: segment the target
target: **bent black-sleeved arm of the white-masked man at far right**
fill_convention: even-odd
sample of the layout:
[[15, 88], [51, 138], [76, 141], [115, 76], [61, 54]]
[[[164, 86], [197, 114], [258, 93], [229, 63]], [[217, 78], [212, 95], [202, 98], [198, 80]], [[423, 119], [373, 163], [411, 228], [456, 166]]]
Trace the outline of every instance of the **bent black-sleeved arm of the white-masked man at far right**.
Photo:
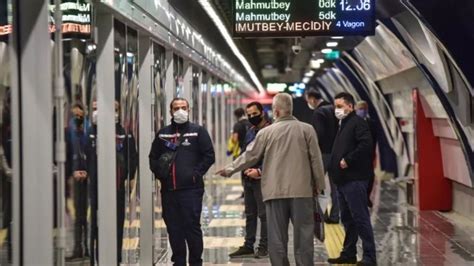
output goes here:
[[361, 122], [358, 122], [354, 127], [356, 147], [344, 156], [344, 161], [348, 167], [357, 164], [362, 156], [370, 156], [372, 152], [372, 135], [370, 134], [369, 126], [365, 121]]

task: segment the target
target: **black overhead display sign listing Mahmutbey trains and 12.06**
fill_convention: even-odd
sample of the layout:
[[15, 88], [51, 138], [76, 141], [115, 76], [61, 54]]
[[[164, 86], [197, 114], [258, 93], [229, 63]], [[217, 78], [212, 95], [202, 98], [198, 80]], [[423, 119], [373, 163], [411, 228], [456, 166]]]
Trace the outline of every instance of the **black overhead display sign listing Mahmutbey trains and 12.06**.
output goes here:
[[234, 37], [373, 35], [375, 0], [232, 0]]

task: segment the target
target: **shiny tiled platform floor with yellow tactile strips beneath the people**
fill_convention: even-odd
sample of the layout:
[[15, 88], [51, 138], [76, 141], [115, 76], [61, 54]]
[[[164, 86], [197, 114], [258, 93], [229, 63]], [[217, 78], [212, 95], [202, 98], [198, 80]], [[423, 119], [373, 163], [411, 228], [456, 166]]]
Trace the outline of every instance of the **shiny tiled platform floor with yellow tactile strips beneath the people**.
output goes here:
[[[404, 191], [390, 181], [378, 182], [376, 186], [372, 222], [378, 265], [474, 265], [472, 221], [453, 213], [417, 211], [407, 204]], [[202, 215], [205, 265], [271, 265], [268, 258], [230, 259], [228, 256], [244, 242], [241, 193], [238, 178], [207, 182]], [[315, 239], [315, 265], [328, 265], [327, 258], [337, 257], [342, 249], [342, 224], [326, 224], [325, 229], [325, 242]], [[294, 254], [291, 231], [290, 225], [290, 263]], [[165, 235], [158, 243], [166, 243]], [[160, 254], [156, 265], [172, 265], [171, 249], [163, 247], [156, 255]], [[359, 259], [361, 255], [359, 241]]]

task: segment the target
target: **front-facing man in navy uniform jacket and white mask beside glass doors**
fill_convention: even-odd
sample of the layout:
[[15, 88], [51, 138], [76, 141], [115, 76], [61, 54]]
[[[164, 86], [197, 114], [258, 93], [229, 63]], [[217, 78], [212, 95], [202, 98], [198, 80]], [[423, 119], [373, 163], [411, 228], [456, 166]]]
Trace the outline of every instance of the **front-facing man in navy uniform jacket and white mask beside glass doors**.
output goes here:
[[[150, 169], [161, 182], [163, 219], [169, 234], [174, 265], [186, 265], [186, 243], [189, 264], [202, 265], [203, 236], [201, 210], [204, 175], [215, 161], [214, 148], [208, 132], [189, 122], [186, 99], [171, 101], [171, 125], [162, 128], [150, 151]], [[169, 169], [160, 169], [160, 157], [175, 151]], [[160, 176], [159, 173], [169, 174]]]

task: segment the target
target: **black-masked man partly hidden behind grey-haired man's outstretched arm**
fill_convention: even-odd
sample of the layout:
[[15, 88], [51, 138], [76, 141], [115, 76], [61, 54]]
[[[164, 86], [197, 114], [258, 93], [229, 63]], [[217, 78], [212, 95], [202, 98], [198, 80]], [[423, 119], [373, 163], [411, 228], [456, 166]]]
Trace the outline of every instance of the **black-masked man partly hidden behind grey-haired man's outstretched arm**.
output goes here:
[[[251, 102], [246, 108], [247, 116], [253, 125], [248, 131], [242, 147], [245, 152], [247, 145], [250, 144], [257, 136], [260, 129], [269, 126], [271, 123], [265, 118], [263, 106], [259, 102]], [[257, 164], [246, 169], [243, 172], [242, 182], [244, 185], [244, 203], [245, 203], [245, 243], [236, 251], [229, 254], [231, 258], [255, 256], [261, 258], [268, 256], [267, 248], [267, 215], [265, 212], [265, 204], [263, 203], [261, 175], [262, 163], [260, 160]], [[256, 251], [254, 244], [257, 234], [257, 217], [260, 219], [260, 242]]]

